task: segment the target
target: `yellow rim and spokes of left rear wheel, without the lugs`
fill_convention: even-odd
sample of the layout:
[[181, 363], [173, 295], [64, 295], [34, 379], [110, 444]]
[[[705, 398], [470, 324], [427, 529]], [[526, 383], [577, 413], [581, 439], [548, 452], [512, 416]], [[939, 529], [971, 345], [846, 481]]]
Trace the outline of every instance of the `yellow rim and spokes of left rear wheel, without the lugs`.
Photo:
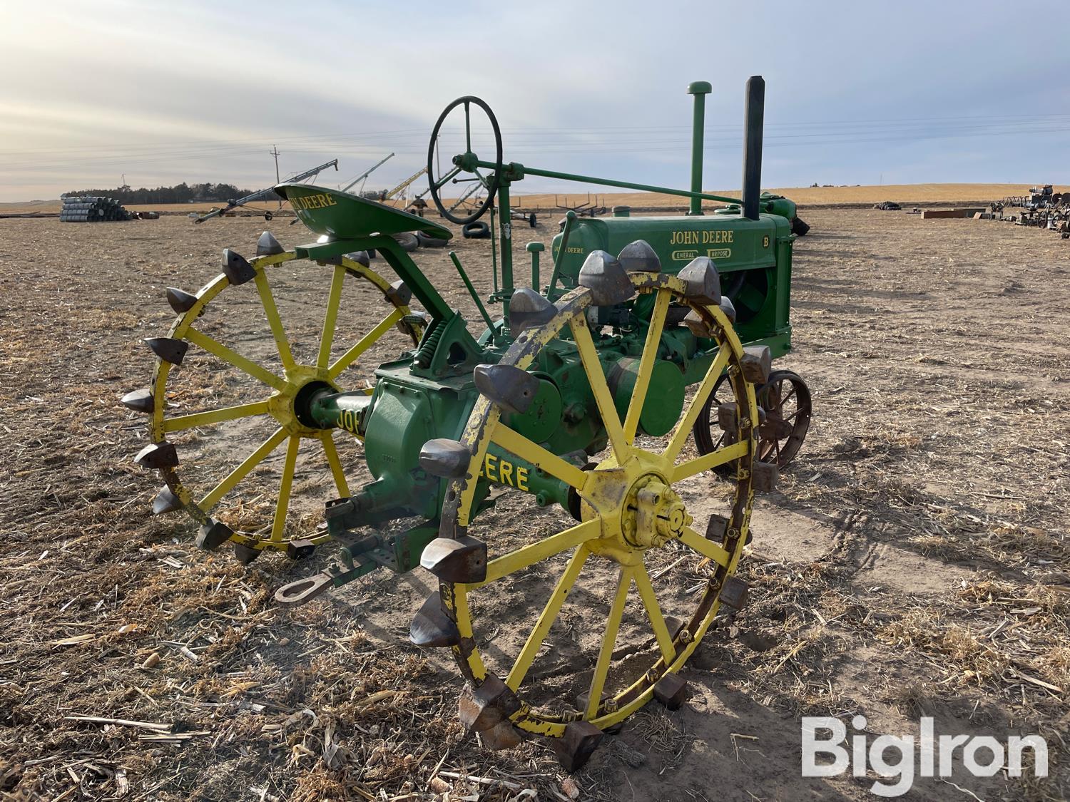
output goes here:
[[[175, 467], [160, 468], [170, 492], [194, 520], [201, 524], [221, 521], [233, 530], [229, 538], [231, 541], [247, 550], [256, 550], [255, 553], [270, 549], [286, 551], [294, 540], [300, 540], [302, 544], [315, 544], [328, 539], [325, 529], [312, 529], [314, 522], [321, 516], [322, 507], [315, 515], [300, 519], [291, 510], [294, 495], [304, 493], [297, 484], [306, 483], [306, 480], [295, 483], [299, 457], [304, 458], [303, 466], [316, 464], [328, 474], [325, 482], [328, 495], [322, 502], [336, 494], [348, 496], [350, 492], [343, 463], [352, 469], [353, 460], [339, 453], [339, 446], [347, 449], [350, 446], [336, 442], [333, 430], [316, 429], [308, 425], [307, 418], [302, 420], [301, 407], [309, 395], [308, 390], [320, 387], [338, 391], [356, 389], [352, 382], [356, 381], [363, 363], [370, 361], [362, 357], [376, 348], [383, 348], [380, 341], [391, 329], [403, 331], [396, 339], [391, 339], [408, 348], [415, 345], [423, 333], [421, 323], [411, 315], [406, 317], [410, 314], [408, 306], [399, 303], [389, 283], [373, 271], [349, 258], [341, 258], [338, 264], [333, 265], [306, 262], [303, 265], [305, 273], [300, 279], [293, 274], [292, 281], [306, 280], [309, 268], [331, 273], [324, 305], [316, 311], [308, 310], [299, 315], [303, 326], [318, 329], [318, 337], [306, 335], [303, 338], [301, 344], [307, 352], [307, 358], [301, 359], [279, 313], [276, 299], [281, 295], [277, 288], [273, 289], [276, 283], [274, 276], [282, 279], [282, 272], [288, 269], [284, 265], [294, 259], [295, 253], [287, 251], [250, 260], [254, 277], [247, 283], [251, 292], [239, 290], [226, 275], [219, 275], [204, 286], [196, 294], [196, 303], [175, 319], [168, 335], [186, 343], [188, 353], [180, 366], [158, 359], [151, 387], [153, 411], [150, 436], [153, 443], [173, 443], [180, 451], [188, 447], [189, 450], [199, 450], [201, 454], [229, 456], [223, 469], [199, 465], [196, 458], [183, 460]], [[327, 280], [326, 275], [322, 278]], [[339, 315], [345, 295], [365, 292], [357, 286], [368, 288], [384, 302], [385, 317], [363, 336], [349, 331], [348, 322], [343, 325]], [[231, 293], [221, 294], [228, 288], [233, 288], [233, 296]], [[256, 343], [257, 338], [246, 341], [244, 346], [231, 348], [223, 341], [224, 338], [216, 336], [213, 326], [223, 326], [214, 320], [209, 321], [212, 315], [207, 314], [215, 307], [219, 307], [216, 314], [224, 322], [232, 313], [235, 318], [239, 312], [254, 318], [259, 314], [261, 325], [266, 329], [259, 339], [270, 338], [272, 341], [261, 350], [272, 352], [271, 361], [277, 361], [277, 367], [264, 367], [269, 364], [264, 353], [253, 358], [247, 355], [249, 341]], [[290, 322], [293, 324], [294, 321], [291, 319]], [[340, 336], [340, 328], [347, 329], [347, 336]], [[216, 369], [220, 364], [223, 369]], [[378, 365], [378, 361], [374, 364]], [[213, 369], [221, 379], [202, 381], [202, 374], [211, 373]], [[192, 392], [189, 387], [199, 389], [205, 382], [226, 388], [220, 392], [228, 398], [239, 397], [240, 403], [226, 406], [209, 404], [210, 408], [196, 412], [170, 408], [174, 403], [180, 408], [193, 406], [195, 401], [192, 402], [190, 398], [198, 394]], [[365, 388], [365, 391], [371, 392], [370, 388]], [[216, 398], [211, 392], [201, 395]], [[245, 433], [245, 430], [254, 428], [260, 430], [256, 439], [259, 445], [255, 447], [248, 444], [249, 435]], [[263, 437], [268, 431], [270, 435]], [[358, 435], [355, 436], [358, 438]], [[303, 445], [306, 448], [302, 448]], [[308, 446], [315, 449], [315, 463], [314, 449]], [[269, 461], [278, 465], [269, 468]], [[275, 473], [276, 467], [277, 478], [264, 476]]]

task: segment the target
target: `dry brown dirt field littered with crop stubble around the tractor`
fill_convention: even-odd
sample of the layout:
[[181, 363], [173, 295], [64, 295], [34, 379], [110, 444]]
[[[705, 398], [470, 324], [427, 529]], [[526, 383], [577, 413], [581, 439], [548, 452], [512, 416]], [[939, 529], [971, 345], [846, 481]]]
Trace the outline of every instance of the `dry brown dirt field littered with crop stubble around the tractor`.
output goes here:
[[[861, 714], [870, 739], [917, 735], [931, 715], [937, 732], [1048, 740], [1046, 780], [975, 778], [957, 760], [947, 782], [919, 778], [907, 799], [1066, 799], [1070, 242], [996, 221], [801, 214], [813, 229], [796, 243], [795, 352], [778, 367], [809, 383], [814, 420], [778, 492], [755, 505], [740, 571], [750, 604], [683, 672], [692, 693], [682, 710], [652, 704], [607, 737], [574, 777], [580, 798], [871, 799], [873, 775], [799, 777], [800, 716]], [[312, 238], [288, 222], [268, 226], [286, 245]], [[118, 403], [151, 377], [140, 340], [166, 335], [164, 288], [205, 283], [220, 249], [251, 255], [264, 225], [0, 220], [0, 792], [398, 800], [448, 787], [450, 799], [567, 799], [545, 742], [490, 753], [462, 739], [452, 662], [407, 639], [433, 587], [423, 569], [288, 611], [274, 589], [326, 555], [244, 568], [196, 550], [177, 513], [151, 516], [160, 482], [132, 462], [144, 420]], [[555, 228], [517, 231], [549, 242]], [[489, 247], [457, 246], [484, 293]], [[416, 261], [476, 318], [444, 251]], [[311, 341], [325, 298], [324, 276], [306, 267], [277, 289], [295, 348]], [[368, 297], [354, 291], [342, 306], [353, 331], [382, 317]], [[210, 324], [240, 329], [254, 308], [227, 296]], [[403, 346], [394, 342], [382, 358]], [[264, 334], [250, 343], [271, 348]], [[240, 390], [208, 364], [188, 375], [198, 368], [183, 398]], [[218, 479], [241, 458], [235, 436], [259, 442], [244, 429], [194, 435], [183, 464]], [[347, 467], [357, 452], [342, 448]], [[315, 453], [301, 459], [294, 525], [311, 527], [333, 488]], [[277, 469], [259, 479], [270, 485]], [[713, 490], [693, 495], [716, 499], [704, 481]], [[246, 502], [243, 514], [262, 514], [261, 496]], [[506, 540], [555, 530], [532, 509], [507, 495], [489, 521]], [[556, 571], [505, 586], [485, 612], [523, 606]], [[592, 622], [610, 591], [588, 591], [568, 620], [576, 636], [553, 639], [562, 659], [548, 687], [600, 634]], [[518, 634], [503, 624], [500, 636]]]

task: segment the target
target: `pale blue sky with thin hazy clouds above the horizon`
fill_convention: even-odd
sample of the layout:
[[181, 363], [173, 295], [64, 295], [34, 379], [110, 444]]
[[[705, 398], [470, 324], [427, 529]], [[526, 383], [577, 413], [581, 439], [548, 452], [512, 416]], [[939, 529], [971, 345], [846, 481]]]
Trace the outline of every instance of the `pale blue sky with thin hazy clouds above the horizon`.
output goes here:
[[[258, 189], [275, 145], [284, 178], [337, 158], [330, 186], [394, 153], [368, 182], [388, 187], [426, 164], [460, 95], [494, 111], [506, 161], [687, 188], [696, 80], [713, 84], [703, 185], [731, 189], [751, 75], [766, 81], [763, 186], [1068, 184], [1068, 32], [1070, 3], [1006, 0], [9, 0], [0, 201], [124, 180]], [[450, 117], [443, 160], [460, 130]], [[493, 160], [488, 132], [474, 113]]]

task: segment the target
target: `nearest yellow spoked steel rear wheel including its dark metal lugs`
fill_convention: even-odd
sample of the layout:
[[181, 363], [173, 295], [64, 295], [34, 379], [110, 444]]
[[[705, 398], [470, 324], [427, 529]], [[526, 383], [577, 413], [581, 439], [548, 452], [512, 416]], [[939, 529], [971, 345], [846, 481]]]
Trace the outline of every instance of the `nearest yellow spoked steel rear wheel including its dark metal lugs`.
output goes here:
[[[482, 396], [460, 439], [472, 453], [471, 467], [467, 476], [452, 480], [443, 511], [444, 536], [483, 539], [489, 552], [485, 581], [440, 585], [441, 607], [459, 633], [454, 652], [469, 681], [461, 719], [491, 747], [515, 743], [514, 727], [560, 738], [554, 745], [568, 769], [586, 759], [602, 730], [652, 697], [678, 706], [686, 687], [676, 673], [719, 607], [738, 608], [745, 592], [733, 574], [753, 496], [759, 417], [754, 385], [748, 380], [754, 371], [747, 364], [753, 353], [742, 346], [719, 308], [685, 297], [681, 279], [632, 274], [631, 281], [640, 295], [656, 297], [623, 420], [587, 323], [587, 289], [565, 295], [553, 319], [520, 335], [501, 361], [526, 369], [559, 333], [570, 331], [608, 434], [607, 449], [594, 458], [597, 463], [584, 469], [531, 442], [508, 428], [500, 406]], [[651, 376], [671, 302], [692, 308], [718, 351], [684, 401], [675, 427], [653, 437], [643, 433], [641, 417], [646, 404], [663, 401]], [[767, 365], [767, 352], [765, 359]], [[738, 437], [699, 454], [688, 435], [724, 372]], [[477, 476], [491, 444], [570, 485], [580, 502], [580, 520], [569, 522], [562, 513], [542, 525], [559, 529], [556, 534], [524, 542], [523, 537], [503, 537], [502, 528], [516, 531], [519, 526], [502, 527], [493, 509], [476, 519]], [[736, 466], [734, 476], [728, 483], [717, 482], [719, 495], [712, 494], [706, 472], [730, 462]], [[520, 498], [535, 507], [532, 496]], [[518, 512], [518, 504], [507, 515], [513, 522], [528, 518]], [[531, 514], [540, 522], [549, 513], [532, 509]], [[488, 516], [491, 522], [480, 528]], [[504, 547], [499, 545], [503, 540]], [[513, 605], [522, 612], [509, 618]]]

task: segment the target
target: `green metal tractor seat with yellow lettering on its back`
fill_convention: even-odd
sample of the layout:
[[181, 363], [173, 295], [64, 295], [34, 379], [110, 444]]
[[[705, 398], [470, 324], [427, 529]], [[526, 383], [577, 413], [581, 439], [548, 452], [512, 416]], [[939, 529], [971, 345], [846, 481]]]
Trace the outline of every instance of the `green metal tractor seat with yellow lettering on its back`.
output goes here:
[[449, 229], [423, 217], [337, 189], [310, 184], [279, 184], [275, 191], [290, 201], [305, 226], [332, 241], [403, 231], [421, 231], [440, 240], [449, 240], [454, 235]]

